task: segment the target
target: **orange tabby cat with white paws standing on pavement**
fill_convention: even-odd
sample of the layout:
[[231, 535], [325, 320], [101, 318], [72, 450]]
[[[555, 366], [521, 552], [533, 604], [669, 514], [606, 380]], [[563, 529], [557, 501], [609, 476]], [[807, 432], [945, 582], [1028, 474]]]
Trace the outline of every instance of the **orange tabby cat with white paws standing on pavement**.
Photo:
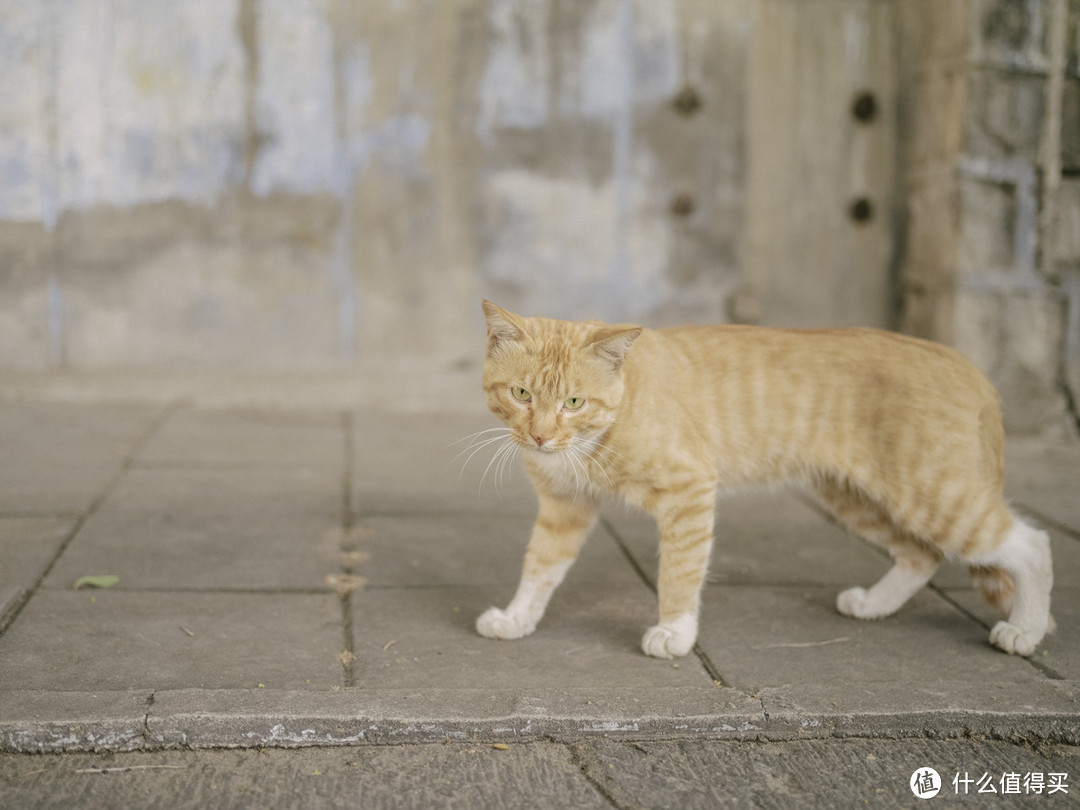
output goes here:
[[1050, 541], [1002, 498], [990, 383], [955, 351], [875, 329], [643, 329], [519, 318], [484, 301], [488, 406], [524, 448], [540, 501], [521, 584], [476, 622], [531, 633], [578, 555], [596, 503], [617, 492], [660, 527], [660, 622], [649, 656], [685, 656], [719, 487], [801, 483], [892, 569], [837, 598], [897, 610], [946, 554], [971, 566], [1007, 621], [990, 643], [1030, 654], [1050, 623]]

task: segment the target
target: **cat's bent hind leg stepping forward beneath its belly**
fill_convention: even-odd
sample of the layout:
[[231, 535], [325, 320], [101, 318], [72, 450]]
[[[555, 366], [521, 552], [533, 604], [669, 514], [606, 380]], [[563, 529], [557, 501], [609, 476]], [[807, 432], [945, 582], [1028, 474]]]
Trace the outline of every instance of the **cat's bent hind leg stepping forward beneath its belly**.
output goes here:
[[937, 570], [943, 554], [897, 526], [862, 492], [835, 482], [814, 486], [825, 508], [851, 532], [888, 550], [893, 567], [870, 588], [849, 588], [836, 609], [855, 619], [881, 619], [900, 610]]

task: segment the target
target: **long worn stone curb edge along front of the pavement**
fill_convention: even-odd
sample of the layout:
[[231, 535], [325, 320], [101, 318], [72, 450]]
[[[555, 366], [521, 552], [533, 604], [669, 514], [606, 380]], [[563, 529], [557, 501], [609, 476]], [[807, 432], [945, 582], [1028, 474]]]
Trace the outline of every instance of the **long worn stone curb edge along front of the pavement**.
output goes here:
[[[0, 752], [154, 751], [590, 737], [787, 741], [984, 735], [1080, 744], [1074, 681], [606, 690], [0, 692]], [[843, 687], [851, 689], [851, 685]], [[998, 694], [990, 694], [998, 691]]]

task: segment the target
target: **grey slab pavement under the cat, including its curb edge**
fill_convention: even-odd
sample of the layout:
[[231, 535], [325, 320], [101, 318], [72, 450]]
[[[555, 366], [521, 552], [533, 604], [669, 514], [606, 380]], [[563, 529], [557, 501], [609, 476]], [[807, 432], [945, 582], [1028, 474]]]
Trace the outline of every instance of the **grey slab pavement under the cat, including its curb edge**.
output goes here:
[[699, 648], [671, 662], [638, 649], [656, 539], [621, 508], [534, 636], [474, 632], [532, 513], [519, 470], [454, 444], [495, 423], [0, 404], [0, 750], [1080, 742], [1080, 446], [1010, 446], [1009, 491], [1054, 543], [1058, 631], [1030, 660], [988, 645], [959, 568], [889, 619], [839, 616], [888, 562], [758, 492], [721, 502]]

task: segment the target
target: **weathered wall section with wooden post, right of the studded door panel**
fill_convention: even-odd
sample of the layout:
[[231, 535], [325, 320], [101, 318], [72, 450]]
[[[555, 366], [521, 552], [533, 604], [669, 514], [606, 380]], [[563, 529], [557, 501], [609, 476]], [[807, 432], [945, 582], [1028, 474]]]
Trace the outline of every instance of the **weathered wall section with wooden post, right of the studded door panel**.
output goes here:
[[1076, 423], [1076, 0], [903, 3], [903, 328], [953, 343], [1009, 427]]

